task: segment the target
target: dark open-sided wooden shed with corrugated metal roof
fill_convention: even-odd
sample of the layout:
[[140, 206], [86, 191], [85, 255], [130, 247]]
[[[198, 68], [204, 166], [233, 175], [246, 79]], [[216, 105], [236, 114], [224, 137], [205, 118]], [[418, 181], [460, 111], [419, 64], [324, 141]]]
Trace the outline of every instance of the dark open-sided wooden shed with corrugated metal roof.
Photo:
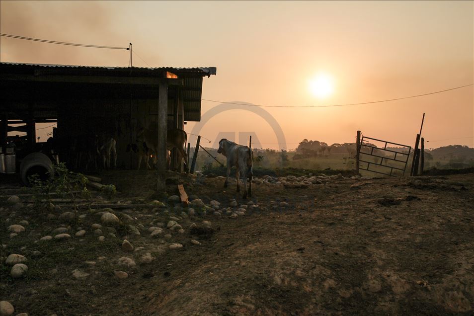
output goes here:
[[[57, 122], [55, 133], [79, 136], [86, 131], [112, 135], [117, 166], [134, 168], [126, 152], [141, 128], [158, 126], [158, 174], [166, 168], [166, 130], [200, 121], [204, 77], [215, 67], [139, 68], [45, 64], [0, 64], [0, 146], [8, 124], [24, 123], [33, 150], [35, 123]], [[16, 128], [18, 130], [18, 128]], [[163, 180], [164, 183], [164, 180]]]

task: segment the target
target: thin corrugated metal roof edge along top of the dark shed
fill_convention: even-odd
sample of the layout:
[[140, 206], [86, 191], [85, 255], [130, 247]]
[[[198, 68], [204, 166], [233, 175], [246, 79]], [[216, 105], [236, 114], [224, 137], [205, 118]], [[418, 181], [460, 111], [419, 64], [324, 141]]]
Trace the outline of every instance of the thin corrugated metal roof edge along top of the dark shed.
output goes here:
[[15, 65], [15, 66], [33, 66], [33, 67], [45, 67], [45, 68], [85, 68], [85, 69], [107, 69], [107, 70], [150, 70], [150, 71], [167, 71], [167, 72], [202, 72], [207, 76], [216, 75], [216, 67], [109, 67], [109, 66], [80, 66], [80, 65], [55, 65], [55, 64], [27, 64], [27, 63], [8, 63], [1, 62], [4, 65]]

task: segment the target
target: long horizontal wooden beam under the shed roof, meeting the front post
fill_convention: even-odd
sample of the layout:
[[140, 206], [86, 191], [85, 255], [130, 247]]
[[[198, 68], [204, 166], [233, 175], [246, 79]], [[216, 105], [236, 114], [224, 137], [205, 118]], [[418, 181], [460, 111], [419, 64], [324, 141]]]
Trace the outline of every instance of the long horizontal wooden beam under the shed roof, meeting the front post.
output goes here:
[[4, 81], [33, 81], [33, 82], [70, 82], [70, 83], [114, 83], [114, 84], [142, 84], [158, 85], [166, 82], [168, 85], [183, 85], [183, 79], [156, 78], [156, 77], [111, 77], [111, 76], [73, 76], [73, 75], [15, 75], [0, 74]]

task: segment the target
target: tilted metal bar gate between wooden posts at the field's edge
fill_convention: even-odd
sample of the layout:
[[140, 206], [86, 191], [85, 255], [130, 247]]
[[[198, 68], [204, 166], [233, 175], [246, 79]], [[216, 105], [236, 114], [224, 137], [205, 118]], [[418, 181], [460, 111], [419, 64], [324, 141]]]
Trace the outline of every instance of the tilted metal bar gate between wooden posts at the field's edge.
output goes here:
[[[370, 143], [374, 141], [383, 143], [383, 147], [377, 147]], [[395, 145], [401, 147], [401, 149], [399, 151], [387, 149], [387, 145]], [[406, 153], [407, 149], [408, 152]], [[411, 146], [363, 136], [357, 151], [359, 170], [371, 171], [390, 176], [402, 176], [405, 174], [410, 152]], [[401, 172], [402, 174], [399, 174]]]

